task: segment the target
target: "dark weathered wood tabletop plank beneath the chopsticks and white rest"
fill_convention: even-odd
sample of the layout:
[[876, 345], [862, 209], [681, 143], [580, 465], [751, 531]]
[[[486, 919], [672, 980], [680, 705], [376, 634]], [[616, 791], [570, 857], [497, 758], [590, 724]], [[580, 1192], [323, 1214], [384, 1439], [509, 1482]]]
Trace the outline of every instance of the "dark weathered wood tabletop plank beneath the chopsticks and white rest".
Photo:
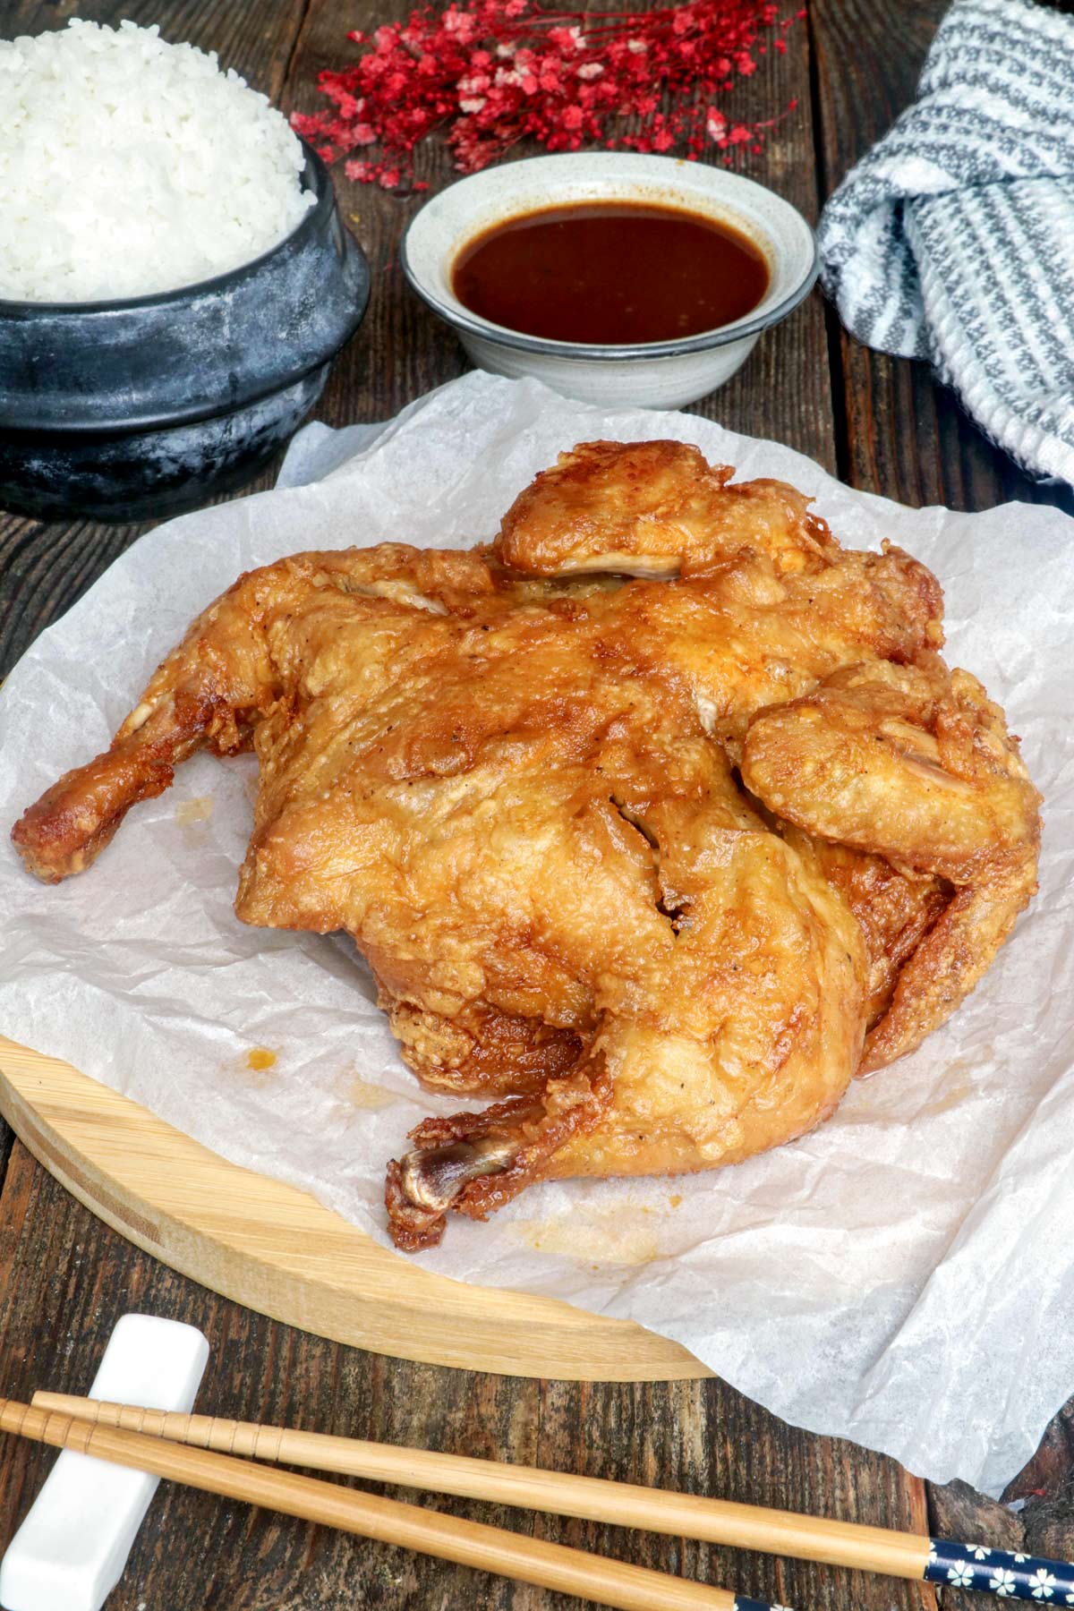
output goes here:
[[[11, 1397], [29, 1398], [42, 1385], [84, 1390], [119, 1315], [145, 1310], [196, 1324], [209, 1337], [200, 1398], [209, 1411], [921, 1526], [919, 1485], [894, 1461], [787, 1427], [725, 1384], [575, 1389], [518, 1382], [364, 1355], [266, 1321], [140, 1255], [37, 1170], [18, 1144], [2, 1224], [0, 1381]], [[0, 1548], [50, 1460], [40, 1447], [5, 1442]], [[377, 1492], [414, 1498], [403, 1489]], [[435, 1503], [783, 1605], [916, 1611], [934, 1603], [931, 1590], [913, 1584], [462, 1500]], [[573, 1611], [576, 1605], [164, 1485], [109, 1611], [142, 1605], [328, 1611], [351, 1603], [391, 1611], [462, 1605]]]

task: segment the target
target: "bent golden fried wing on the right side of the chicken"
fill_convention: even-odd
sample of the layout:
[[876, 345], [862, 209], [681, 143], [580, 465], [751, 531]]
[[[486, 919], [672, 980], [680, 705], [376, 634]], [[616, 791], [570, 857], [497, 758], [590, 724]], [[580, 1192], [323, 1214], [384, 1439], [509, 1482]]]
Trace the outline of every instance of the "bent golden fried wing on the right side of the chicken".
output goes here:
[[915, 1050], [979, 981], [1037, 886], [1040, 796], [1003, 712], [937, 656], [847, 667], [755, 717], [742, 778], [799, 828], [952, 886], [942, 910], [936, 886], [911, 920], [919, 939], [861, 1071]]

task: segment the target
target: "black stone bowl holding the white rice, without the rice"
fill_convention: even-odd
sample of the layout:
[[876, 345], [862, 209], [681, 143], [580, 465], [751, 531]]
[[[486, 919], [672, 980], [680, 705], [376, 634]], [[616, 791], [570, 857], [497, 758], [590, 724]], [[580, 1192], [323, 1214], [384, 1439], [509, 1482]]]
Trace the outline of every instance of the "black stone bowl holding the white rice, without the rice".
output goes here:
[[369, 264], [317, 197], [253, 263], [155, 296], [0, 300], [0, 507], [147, 520], [250, 482], [296, 430], [369, 301]]

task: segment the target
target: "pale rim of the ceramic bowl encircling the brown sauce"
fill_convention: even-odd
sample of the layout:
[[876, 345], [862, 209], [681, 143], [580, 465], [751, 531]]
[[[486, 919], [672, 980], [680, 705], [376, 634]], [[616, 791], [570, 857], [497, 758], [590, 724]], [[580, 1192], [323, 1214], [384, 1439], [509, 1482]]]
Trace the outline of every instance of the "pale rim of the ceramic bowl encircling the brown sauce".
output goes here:
[[[715, 330], [700, 330], [697, 335], [675, 337], [665, 342], [639, 342], [633, 345], [626, 343], [589, 345], [585, 342], [556, 342], [551, 337], [544, 335], [525, 335], [525, 332], [522, 330], [512, 330], [507, 325], [494, 324], [491, 319], [483, 319], [480, 314], [472, 313], [456, 298], [452, 298], [451, 301], [444, 301], [428, 285], [428, 280], [423, 279], [422, 274], [414, 267], [411, 253], [407, 251], [411, 234], [417, 230], [419, 226], [422, 226], [427, 209], [435, 208], [436, 203], [443, 201], [444, 197], [456, 198], [457, 193], [465, 188], [481, 190], [491, 176], [502, 176], [506, 172], [518, 174], [520, 179], [518, 188], [522, 190], [527, 172], [533, 172], [533, 169], [538, 166], [544, 168], [544, 171], [547, 172], [549, 164], [552, 163], [557, 164], [557, 168], [560, 169], [560, 172], [564, 172], [564, 176], [567, 174], [567, 164], [572, 164], [576, 172], [583, 172], [583, 169], [586, 168], [593, 171], [593, 168], [596, 168], [597, 164], [601, 168], [607, 166], [610, 177], [610, 169], [613, 166], [620, 168], [623, 156], [626, 156], [631, 169], [639, 169], [641, 164], [644, 164], [647, 171], [654, 174], [660, 172], [668, 180], [667, 182], [668, 192], [673, 192], [676, 188], [675, 182], [668, 177], [668, 171], [675, 169], [681, 176], [683, 168], [689, 166], [688, 179], [697, 176], [699, 172], [718, 174], [721, 180], [731, 180], [739, 195], [742, 193], [744, 188], [760, 192], [770, 206], [775, 203], [779, 211], [786, 211], [786, 214], [792, 216], [794, 222], [800, 227], [800, 230], [803, 230], [808, 235], [810, 255], [808, 261], [803, 259], [802, 269], [792, 279], [787, 293], [781, 296], [778, 303], [771, 303], [768, 306], [762, 300], [760, 308], [757, 311], [744, 314], [741, 319], [736, 319], [731, 324], [717, 325]], [[659, 168], [654, 168], [651, 164], [659, 164]], [[680, 184], [678, 190], [684, 203], [691, 200], [688, 187]], [[541, 206], [556, 206], [556, 201], [552, 198], [547, 198], [547, 201], [541, 203]], [[734, 211], [733, 203], [728, 203], [728, 209]], [[533, 211], [539, 211], [539, 206], [535, 206]], [[504, 216], [509, 217], [512, 214], [506, 213]], [[493, 226], [486, 224], [485, 227], [493, 227]], [[757, 229], [758, 234], [765, 234], [763, 226], [757, 226]], [[457, 246], [464, 245], [464, 242], [472, 238], [473, 234], [480, 234], [480, 230], [473, 230], [472, 234], [464, 230], [459, 235]], [[768, 185], [760, 185], [757, 184], [755, 179], [746, 179], [744, 174], [729, 174], [723, 168], [710, 168], [705, 163], [686, 164], [683, 159], [675, 156], [649, 156], [647, 153], [641, 155], [634, 151], [631, 153], [565, 151], [556, 156], [531, 156], [531, 158], [523, 158], [518, 163], [506, 164], [502, 168], [483, 169], [480, 174], [470, 174], [467, 179], [459, 179], [446, 190], [441, 190], [438, 195], [432, 197], [425, 203], [425, 206], [411, 219], [403, 235], [401, 259], [403, 259], [403, 272], [406, 274], [407, 280], [411, 282], [417, 295], [422, 298], [422, 301], [428, 303], [428, 306], [435, 313], [438, 313], [449, 324], [456, 325], [456, 329], [459, 330], [465, 330], [470, 335], [485, 337], [485, 340], [496, 342], [499, 346], [518, 348], [520, 351], [525, 353], [549, 353], [564, 359], [596, 358], [605, 361], [631, 359], [631, 358], [633, 359], [678, 358], [684, 353], [702, 353], [712, 346], [728, 346], [731, 342], [741, 342], [749, 337], [760, 335], [762, 330], [770, 329], [773, 324], [779, 324], [783, 319], [786, 319], [789, 313], [792, 313], [799, 306], [800, 301], [805, 301], [820, 272], [820, 253], [816, 250], [816, 237], [812, 227], [802, 217], [799, 209], [792, 206], [791, 201], [784, 201], [784, 198], [778, 195], [775, 190], [770, 190]]]

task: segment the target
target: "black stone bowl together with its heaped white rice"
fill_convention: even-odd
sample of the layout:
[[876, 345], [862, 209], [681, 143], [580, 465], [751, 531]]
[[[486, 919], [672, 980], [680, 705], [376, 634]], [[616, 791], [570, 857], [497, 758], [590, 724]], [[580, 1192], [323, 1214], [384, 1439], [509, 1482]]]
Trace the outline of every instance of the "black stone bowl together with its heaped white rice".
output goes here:
[[0, 507], [142, 520], [267, 464], [369, 300], [324, 163], [158, 29], [0, 40]]

